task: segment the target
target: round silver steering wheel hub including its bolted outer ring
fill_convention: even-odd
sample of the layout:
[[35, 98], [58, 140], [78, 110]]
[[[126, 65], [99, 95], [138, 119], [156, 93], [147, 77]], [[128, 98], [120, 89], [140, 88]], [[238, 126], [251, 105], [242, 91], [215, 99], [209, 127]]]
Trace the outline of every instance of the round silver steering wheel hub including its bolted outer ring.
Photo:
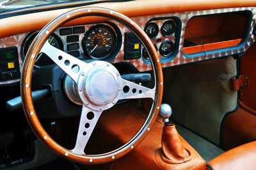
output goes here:
[[122, 78], [115, 66], [106, 61], [93, 61], [82, 73], [77, 81], [81, 102], [95, 111], [113, 107], [122, 87]]

